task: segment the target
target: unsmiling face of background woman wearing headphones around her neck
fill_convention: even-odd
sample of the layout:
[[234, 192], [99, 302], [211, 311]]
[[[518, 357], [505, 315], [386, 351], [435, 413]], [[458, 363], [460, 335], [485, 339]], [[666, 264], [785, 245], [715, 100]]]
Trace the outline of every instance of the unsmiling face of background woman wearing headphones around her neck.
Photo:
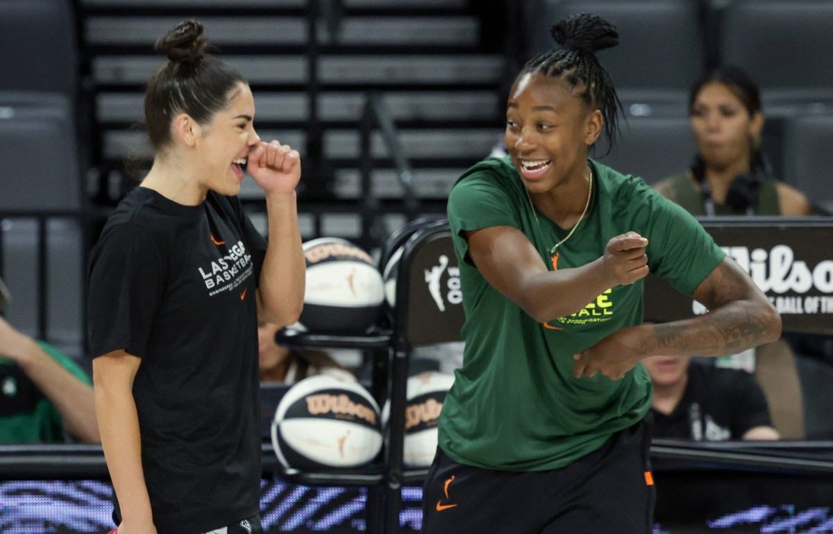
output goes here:
[[709, 82], [691, 104], [691, 128], [706, 165], [748, 166], [752, 143], [761, 137], [763, 116], [750, 113], [726, 84]]

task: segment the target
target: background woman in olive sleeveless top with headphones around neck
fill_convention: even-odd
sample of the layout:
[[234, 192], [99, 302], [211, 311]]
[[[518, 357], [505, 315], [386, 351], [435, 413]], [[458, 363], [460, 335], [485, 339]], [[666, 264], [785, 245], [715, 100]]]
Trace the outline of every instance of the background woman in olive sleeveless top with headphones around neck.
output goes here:
[[772, 175], [761, 151], [761, 93], [738, 67], [717, 67], [689, 95], [697, 154], [691, 168], [657, 182], [692, 215], [811, 215], [806, 196]]

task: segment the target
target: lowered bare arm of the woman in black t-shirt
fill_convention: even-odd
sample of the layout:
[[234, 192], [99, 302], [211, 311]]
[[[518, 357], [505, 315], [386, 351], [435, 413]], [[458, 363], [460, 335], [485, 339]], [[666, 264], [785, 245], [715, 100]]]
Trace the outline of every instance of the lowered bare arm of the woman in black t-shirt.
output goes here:
[[133, 379], [142, 360], [123, 350], [92, 361], [104, 459], [122, 512], [119, 534], [156, 534], [142, 470], [142, 440]]

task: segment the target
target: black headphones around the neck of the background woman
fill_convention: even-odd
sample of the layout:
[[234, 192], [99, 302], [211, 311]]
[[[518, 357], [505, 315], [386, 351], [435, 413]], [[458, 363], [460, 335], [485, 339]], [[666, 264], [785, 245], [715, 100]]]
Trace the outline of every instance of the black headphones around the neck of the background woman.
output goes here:
[[[694, 157], [694, 162], [691, 162], [690, 170], [694, 179], [700, 184], [706, 215], [715, 215], [715, 202], [711, 198], [711, 186], [706, 180], [706, 162], [703, 161], [703, 157], [699, 153]], [[766, 160], [763, 152], [756, 150], [752, 154], [751, 171], [741, 172], [732, 179], [729, 188], [726, 190], [724, 203], [733, 212], [755, 215], [762, 179], [771, 175], [770, 163]]]

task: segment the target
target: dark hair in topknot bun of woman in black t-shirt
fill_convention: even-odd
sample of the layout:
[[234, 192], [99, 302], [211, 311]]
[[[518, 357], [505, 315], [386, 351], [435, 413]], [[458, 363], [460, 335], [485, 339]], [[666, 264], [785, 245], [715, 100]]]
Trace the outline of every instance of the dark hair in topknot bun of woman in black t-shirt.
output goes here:
[[187, 113], [200, 124], [211, 122], [227, 106], [237, 83], [246, 83], [240, 72], [207, 54], [202, 33], [202, 24], [189, 18], [156, 42], [155, 49], [167, 61], [147, 83], [145, 124], [157, 152], [171, 142], [171, 121], [178, 113]]

